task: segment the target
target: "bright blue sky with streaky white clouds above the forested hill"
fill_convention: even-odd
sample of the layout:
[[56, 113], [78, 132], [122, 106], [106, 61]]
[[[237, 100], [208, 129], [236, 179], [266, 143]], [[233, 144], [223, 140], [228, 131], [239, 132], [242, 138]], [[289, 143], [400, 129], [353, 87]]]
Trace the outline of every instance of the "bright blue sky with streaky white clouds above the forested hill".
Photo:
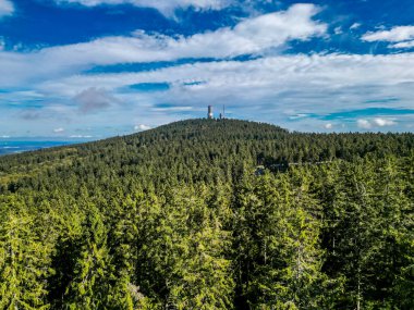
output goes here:
[[0, 138], [191, 117], [414, 131], [413, 0], [0, 0]]

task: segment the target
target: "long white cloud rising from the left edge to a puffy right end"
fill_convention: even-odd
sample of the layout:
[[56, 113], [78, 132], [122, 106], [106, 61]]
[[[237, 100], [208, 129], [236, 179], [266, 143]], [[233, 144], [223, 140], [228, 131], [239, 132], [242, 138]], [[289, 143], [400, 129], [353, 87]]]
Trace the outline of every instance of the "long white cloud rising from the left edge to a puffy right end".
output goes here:
[[326, 24], [312, 20], [317, 12], [313, 4], [294, 4], [288, 11], [246, 18], [233, 28], [191, 37], [135, 32], [132, 37], [106, 37], [26, 53], [0, 51], [0, 73], [4, 73], [0, 86], [21, 86], [25, 79], [54, 78], [93, 65], [266, 54], [290, 40], [325, 34]]

